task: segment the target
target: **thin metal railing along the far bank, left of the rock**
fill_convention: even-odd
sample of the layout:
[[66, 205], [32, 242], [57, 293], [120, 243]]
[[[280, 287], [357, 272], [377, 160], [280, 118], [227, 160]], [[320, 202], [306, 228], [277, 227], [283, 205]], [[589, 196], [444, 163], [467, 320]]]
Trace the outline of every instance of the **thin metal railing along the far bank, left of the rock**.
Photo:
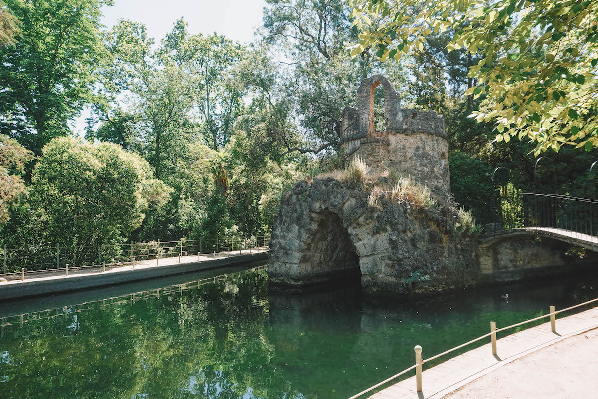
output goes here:
[[[103, 271], [115, 267], [132, 266], [138, 262], [155, 259], [222, 254], [255, 248], [267, 248], [269, 236], [230, 237], [199, 240], [126, 243], [100, 246], [39, 246], [30, 248], [0, 248], [2, 273], [0, 277], [25, 279], [27, 273], [65, 272], [102, 267]], [[48, 261], [50, 258], [52, 261]], [[20, 269], [20, 270], [19, 270]], [[15, 270], [8, 272], [8, 270]]]

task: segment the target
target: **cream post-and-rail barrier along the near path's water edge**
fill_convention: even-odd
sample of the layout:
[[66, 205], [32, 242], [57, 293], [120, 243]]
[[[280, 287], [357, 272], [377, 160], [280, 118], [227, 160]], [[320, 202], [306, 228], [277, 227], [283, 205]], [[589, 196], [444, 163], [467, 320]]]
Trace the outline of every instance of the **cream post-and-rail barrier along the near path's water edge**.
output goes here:
[[518, 323], [515, 323], [515, 324], [512, 324], [512, 325], [508, 325], [507, 327], [502, 327], [502, 328], [499, 328], [498, 330], [496, 329], [496, 322], [491, 321], [490, 322], [490, 333], [487, 333], [487, 334], [484, 334], [483, 336], [480, 336], [480, 337], [477, 337], [475, 339], [472, 339], [471, 341], [462, 343], [459, 346], [455, 346], [454, 348], [451, 348], [448, 351], [444, 351], [444, 352], [442, 352], [442, 353], [440, 353], [438, 355], [434, 355], [434, 356], [429, 357], [429, 358], [427, 358], [425, 360], [422, 360], [422, 347], [419, 346], [419, 345], [416, 345], [415, 348], [413, 348], [414, 351], [415, 351], [415, 354], [416, 354], [416, 357], [415, 357], [416, 361], [415, 361], [415, 364], [413, 364], [413, 366], [405, 368], [405, 370], [402, 370], [399, 373], [396, 373], [395, 375], [393, 375], [391, 377], [388, 377], [387, 379], [383, 380], [382, 382], [377, 383], [376, 385], [370, 386], [370, 388], [368, 388], [368, 389], [364, 389], [364, 391], [361, 391], [358, 394], [355, 394], [355, 395], [353, 395], [352, 397], [350, 397], [348, 399], [356, 399], [356, 398], [360, 397], [361, 395], [367, 394], [368, 392], [373, 391], [374, 389], [378, 388], [379, 386], [382, 386], [385, 383], [388, 383], [388, 382], [392, 381], [396, 377], [402, 376], [402, 374], [405, 374], [408, 371], [413, 370], [414, 368], [416, 369], [416, 390], [417, 390], [417, 392], [422, 392], [422, 364], [424, 364], [426, 362], [429, 362], [429, 361], [432, 361], [432, 360], [435, 360], [437, 358], [440, 358], [441, 356], [450, 354], [451, 352], [457, 351], [457, 349], [461, 349], [464, 346], [471, 345], [472, 343], [478, 342], [479, 340], [482, 340], [482, 339], [487, 338], [487, 337], [490, 337], [490, 342], [492, 343], [492, 354], [493, 355], [497, 355], [498, 351], [497, 351], [497, 343], [496, 343], [497, 342], [497, 340], [496, 340], [496, 333], [508, 330], [509, 328], [518, 327], [520, 325], [527, 324], [527, 323], [532, 322], [532, 321], [537, 321], [539, 319], [547, 318], [547, 317], [550, 317], [550, 328], [551, 328], [551, 331], [553, 333], [556, 333], [556, 315], [558, 313], [567, 312], [568, 310], [575, 309], [576, 307], [584, 306], [584, 305], [587, 305], [587, 304], [590, 304], [590, 303], [593, 303], [593, 302], [596, 302], [596, 301], [598, 301], [598, 298], [592, 299], [592, 300], [589, 300], [589, 301], [585, 301], [583, 303], [579, 303], [579, 304], [576, 304], [576, 305], [573, 305], [573, 306], [569, 306], [569, 307], [566, 307], [565, 309], [561, 309], [561, 310], [558, 310], [558, 311], [555, 310], [554, 306], [551, 305], [549, 307], [549, 312], [547, 314], [545, 314], [545, 315], [538, 316], [538, 317], [535, 317], [533, 319], [529, 319], [529, 320], [526, 320], [526, 321], [521, 321], [521, 322], [518, 322]]

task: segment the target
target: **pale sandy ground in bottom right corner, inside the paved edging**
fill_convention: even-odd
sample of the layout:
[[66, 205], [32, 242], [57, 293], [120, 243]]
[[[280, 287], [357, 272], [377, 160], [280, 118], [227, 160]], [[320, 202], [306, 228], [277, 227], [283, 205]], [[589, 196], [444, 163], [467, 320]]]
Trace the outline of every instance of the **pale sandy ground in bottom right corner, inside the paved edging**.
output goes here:
[[598, 328], [505, 364], [443, 398], [598, 398]]

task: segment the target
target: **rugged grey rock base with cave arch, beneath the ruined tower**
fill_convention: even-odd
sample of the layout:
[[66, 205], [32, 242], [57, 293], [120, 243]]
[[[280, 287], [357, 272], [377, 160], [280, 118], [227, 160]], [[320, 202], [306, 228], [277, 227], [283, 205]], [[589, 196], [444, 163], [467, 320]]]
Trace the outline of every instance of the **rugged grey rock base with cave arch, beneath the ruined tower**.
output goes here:
[[332, 178], [301, 181], [284, 193], [271, 237], [270, 281], [301, 286], [361, 273], [362, 289], [381, 294], [466, 287], [475, 280], [477, 240], [451, 230], [450, 215], [416, 212], [385, 196], [382, 209], [370, 208], [367, 197], [367, 187]]

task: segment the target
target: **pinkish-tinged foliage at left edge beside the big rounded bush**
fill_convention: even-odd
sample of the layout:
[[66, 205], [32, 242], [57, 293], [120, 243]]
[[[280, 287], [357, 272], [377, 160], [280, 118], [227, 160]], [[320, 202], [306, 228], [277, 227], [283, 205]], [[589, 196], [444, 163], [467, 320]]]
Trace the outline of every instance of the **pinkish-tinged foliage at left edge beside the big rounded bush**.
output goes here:
[[0, 226], [10, 219], [10, 206], [27, 192], [21, 175], [32, 159], [31, 151], [15, 139], [0, 135]]

